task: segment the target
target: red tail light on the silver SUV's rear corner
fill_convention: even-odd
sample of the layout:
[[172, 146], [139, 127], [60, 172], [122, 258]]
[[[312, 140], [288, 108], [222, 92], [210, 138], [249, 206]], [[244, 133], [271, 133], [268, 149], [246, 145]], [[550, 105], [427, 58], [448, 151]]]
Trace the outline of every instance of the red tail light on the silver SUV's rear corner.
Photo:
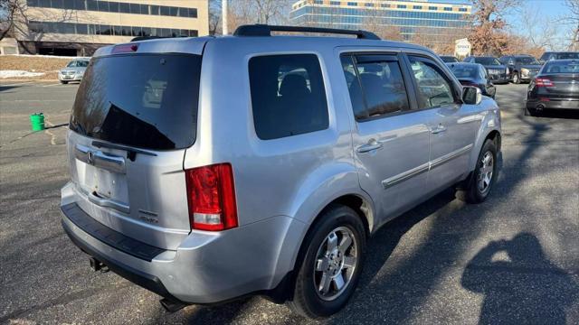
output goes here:
[[186, 170], [185, 181], [192, 229], [217, 231], [237, 227], [237, 204], [230, 163]]

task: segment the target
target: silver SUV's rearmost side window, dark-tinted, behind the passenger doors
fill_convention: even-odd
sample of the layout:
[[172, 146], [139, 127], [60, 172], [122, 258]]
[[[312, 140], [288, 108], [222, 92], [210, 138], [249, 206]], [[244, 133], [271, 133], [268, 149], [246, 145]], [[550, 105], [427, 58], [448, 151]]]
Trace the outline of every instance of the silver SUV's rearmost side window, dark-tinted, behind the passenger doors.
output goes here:
[[327, 129], [326, 91], [315, 54], [250, 59], [253, 123], [262, 140]]

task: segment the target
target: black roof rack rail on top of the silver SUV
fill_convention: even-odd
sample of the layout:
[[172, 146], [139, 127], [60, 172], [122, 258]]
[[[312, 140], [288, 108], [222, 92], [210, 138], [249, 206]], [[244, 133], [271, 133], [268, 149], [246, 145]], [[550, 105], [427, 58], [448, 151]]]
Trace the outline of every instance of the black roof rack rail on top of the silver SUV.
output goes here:
[[301, 26], [274, 26], [268, 24], [248, 24], [237, 27], [234, 36], [271, 36], [271, 32], [324, 32], [345, 35], [356, 35], [358, 39], [365, 40], [380, 40], [374, 32], [367, 32], [362, 30], [345, 30], [336, 28], [322, 28], [322, 27], [301, 27]]

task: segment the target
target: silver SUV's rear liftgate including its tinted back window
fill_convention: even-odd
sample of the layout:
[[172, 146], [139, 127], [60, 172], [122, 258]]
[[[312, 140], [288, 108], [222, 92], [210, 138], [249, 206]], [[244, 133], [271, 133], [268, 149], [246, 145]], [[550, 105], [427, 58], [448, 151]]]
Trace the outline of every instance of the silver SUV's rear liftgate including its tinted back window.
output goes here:
[[90, 61], [68, 141], [76, 203], [128, 237], [166, 249], [189, 233], [183, 162], [195, 143], [200, 55]]

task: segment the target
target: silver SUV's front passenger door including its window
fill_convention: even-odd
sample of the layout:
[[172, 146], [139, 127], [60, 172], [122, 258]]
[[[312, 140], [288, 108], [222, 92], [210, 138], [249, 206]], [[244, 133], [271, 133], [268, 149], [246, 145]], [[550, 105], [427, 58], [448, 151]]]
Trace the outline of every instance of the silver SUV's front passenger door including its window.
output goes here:
[[462, 107], [460, 87], [432, 58], [407, 56], [421, 109], [433, 113], [429, 124], [429, 190], [457, 181], [469, 170], [469, 154], [479, 121], [477, 110]]

